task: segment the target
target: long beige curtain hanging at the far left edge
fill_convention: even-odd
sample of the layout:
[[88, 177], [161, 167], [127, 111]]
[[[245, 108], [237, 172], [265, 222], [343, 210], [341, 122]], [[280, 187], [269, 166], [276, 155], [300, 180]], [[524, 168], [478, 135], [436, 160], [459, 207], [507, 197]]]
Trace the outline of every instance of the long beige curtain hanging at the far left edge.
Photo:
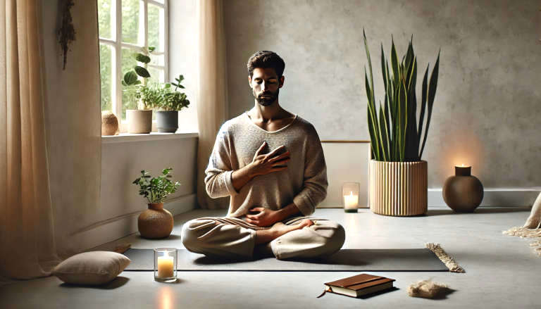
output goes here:
[[0, 270], [16, 279], [49, 275], [58, 263], [38, 4], [0, 4]]

